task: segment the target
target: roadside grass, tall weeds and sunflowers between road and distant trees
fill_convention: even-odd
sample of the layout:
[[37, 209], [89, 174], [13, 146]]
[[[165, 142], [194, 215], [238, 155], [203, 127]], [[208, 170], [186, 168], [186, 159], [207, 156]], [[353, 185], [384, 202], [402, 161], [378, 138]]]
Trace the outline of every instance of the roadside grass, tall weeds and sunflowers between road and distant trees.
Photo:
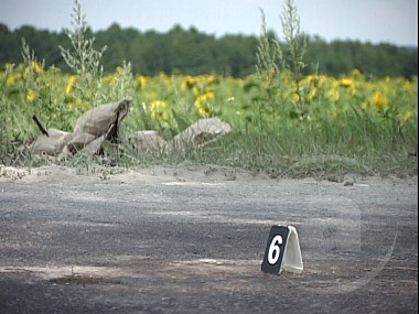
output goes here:
[[[307, 36], [292, 0], [281, 14], [283, 39], [261, 30], [255, 71], [243, 77], [221, 74], [133, 74], [127, 61], [104, 72], [109, 46], [97, 47], [80, 4], [71, 15], [72, 45], [60, 46], [72, 73], [45, 66], [28, 42], [22, 62], [0, 72], [0, 164], [33, 166], [21, 149], [39, 134], [36, 113], [49, 128], [72, 130], [75, 120], [99, 104], [131, 99], [122, 137], [158, 130], [166, 140], [200, 118], [219, 117], [233, 131], [203, 148], [182, 154], [144, 154], [132, 159], [123, 150], [105, 153], [118, 165], [176, 164], [184, 160], [251, 170], [278, 176], [334, 177], [416, 175], [418, 142], [417, 76], [370, 77], [353, 68], [341, 76], [309, 66]], [[308, 74], [308, 69], [313, 68]], [[24, 145], [23, 145], [24, 147]], [[79, 159], [63, 163], [92, 162]], [[95, 161], [99, 162], [99, 161]]]

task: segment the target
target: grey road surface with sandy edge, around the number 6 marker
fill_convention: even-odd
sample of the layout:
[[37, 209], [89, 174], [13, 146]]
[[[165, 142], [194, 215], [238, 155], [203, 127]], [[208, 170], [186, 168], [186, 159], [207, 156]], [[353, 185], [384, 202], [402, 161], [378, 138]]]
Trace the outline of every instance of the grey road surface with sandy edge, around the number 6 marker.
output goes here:
[[[3, 177], [0, 313], [417, 313], [417, 191], [215, 166]], [[297, 228], [301, 274], [261, 271], [272, 225]]]

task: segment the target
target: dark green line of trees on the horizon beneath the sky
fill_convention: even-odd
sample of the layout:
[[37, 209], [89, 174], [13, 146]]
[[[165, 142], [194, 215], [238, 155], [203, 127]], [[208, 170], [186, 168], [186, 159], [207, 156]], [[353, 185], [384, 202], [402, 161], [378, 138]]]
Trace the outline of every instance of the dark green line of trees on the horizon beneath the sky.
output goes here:
[[[122, 29], [114, 23], [107, 30], [93, 32], [95, 45], [107, 45], [101, 63], [106, 73], [123, 61], [131, 62], [133, 74], [223, 74], [243, 77], [256, 72], [256, 54], [259, 39], [251, 35], [226, 34], [216, 37], [195, 28], [174, 25], [165, 33], [141, 32]], [[273, 32], [271, 31], [271, 35]], [[45, 66], [54, 65], [64, 72], [71, 69], [64, 62], [58, 46], [71, 48], [64, 31], [50, 32], [33, 26], [11, 31], [0, 23], [0, 67], [22, 61], [22, 39]], [[319, 73], [330, 76], [348, 74], [354, 68], [370, 77], [418, 75], [418, 48], [388, 43], [372, 44], [358, 41], [326, 42], [320, 36], [307, 36], [304, 74]]]

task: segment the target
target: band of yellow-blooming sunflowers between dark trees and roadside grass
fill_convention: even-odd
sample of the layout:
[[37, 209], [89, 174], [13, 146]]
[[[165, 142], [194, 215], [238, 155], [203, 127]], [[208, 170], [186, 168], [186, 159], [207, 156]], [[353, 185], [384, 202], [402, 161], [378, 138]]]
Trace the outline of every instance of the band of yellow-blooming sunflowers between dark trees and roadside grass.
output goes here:
[[78, 75], [55, 67], [44, 69], [37, 62], [8, 64], [0, 72], [2, 132], [9, 139], [34, 134], [36, 130], [30, 126], [33, 113], [43, 117], [49, 127], [69, 130], [87, 109], [121, 98], [133, 100], [128, 131], [151, 128], [176, 133], [204, 117], [219, 117], [237, 131], [275, 130], [287, 123], [313, 127], [325, 120], [351, 123], [351, 115], [400, 132], [417, 123], [417, 77], [368, 79], [354, 69], [341, 78], [309, 75], [298, 87], [290, 76], [277, 79], [280, 90], [273, 95], [276, 99], [264, 99], [265, 78], [256, 74], [244, 78], [212, 74], [147, 77], [131, 76], [119, 67], [97, 83], [99, 96], [94, 104], [95, 97], [79, 86], [83, 79]]

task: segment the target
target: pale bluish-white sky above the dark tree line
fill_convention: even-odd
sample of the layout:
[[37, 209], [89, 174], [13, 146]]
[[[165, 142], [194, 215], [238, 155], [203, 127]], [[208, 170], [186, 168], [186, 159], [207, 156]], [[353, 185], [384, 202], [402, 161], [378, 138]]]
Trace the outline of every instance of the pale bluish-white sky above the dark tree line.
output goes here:
[[[267, 28], [282, 37], [284, 0], [79, 0], [94, 31], [121, 28], [166, 32], [175, 24], [217, 36], [257, 35], [260, 9]], [[418, 0], [294, 0], [301, 31], [331, 40], [418, 46]], [[0, 0], [0, 23], [11, 30], [71, 29], [74, 0]]]

